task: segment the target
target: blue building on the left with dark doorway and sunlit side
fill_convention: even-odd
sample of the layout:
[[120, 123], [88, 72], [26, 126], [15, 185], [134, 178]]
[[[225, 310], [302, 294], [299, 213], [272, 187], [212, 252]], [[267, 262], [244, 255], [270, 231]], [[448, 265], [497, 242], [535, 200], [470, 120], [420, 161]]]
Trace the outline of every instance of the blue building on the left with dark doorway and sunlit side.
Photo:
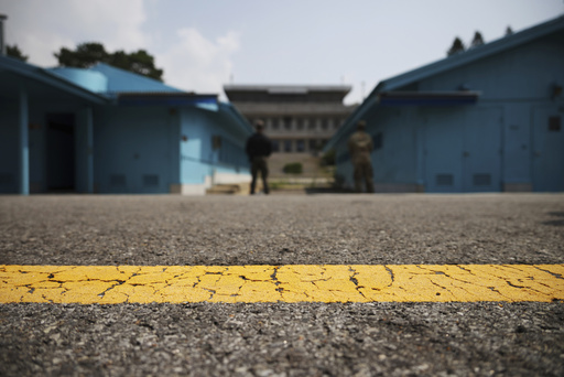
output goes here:
[[0, 83], [0, 193], [204, 194], [250, 181], [252, 127], [216, 95], [6, 56]]

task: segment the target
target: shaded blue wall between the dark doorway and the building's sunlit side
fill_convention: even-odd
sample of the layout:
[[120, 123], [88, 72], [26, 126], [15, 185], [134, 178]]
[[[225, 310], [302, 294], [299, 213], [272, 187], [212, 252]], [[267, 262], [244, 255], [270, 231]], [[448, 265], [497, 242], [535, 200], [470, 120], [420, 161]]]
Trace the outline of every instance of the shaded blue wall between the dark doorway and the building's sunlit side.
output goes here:
[[95, 187], [100, 193], [169, 193], [177, 183], [177, 117], [163, 107], [106, 107], [95, 116]]

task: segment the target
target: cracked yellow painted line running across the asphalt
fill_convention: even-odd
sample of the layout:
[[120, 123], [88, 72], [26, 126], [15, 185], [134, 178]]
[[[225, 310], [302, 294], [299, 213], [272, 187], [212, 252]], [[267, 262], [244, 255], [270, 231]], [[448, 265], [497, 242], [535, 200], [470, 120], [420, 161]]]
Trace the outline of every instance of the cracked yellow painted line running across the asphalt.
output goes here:
[[0, 265], [0, 303], [554, 300], [564, 265]]

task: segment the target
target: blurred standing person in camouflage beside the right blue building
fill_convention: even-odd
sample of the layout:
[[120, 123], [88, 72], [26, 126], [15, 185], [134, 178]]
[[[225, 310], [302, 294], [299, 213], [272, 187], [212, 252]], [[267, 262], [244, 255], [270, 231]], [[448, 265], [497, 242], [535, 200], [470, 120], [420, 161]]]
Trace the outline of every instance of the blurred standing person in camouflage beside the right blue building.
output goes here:
[[360, 120], [357, 125], [357, 131], [348, 139], [348, 151], [355, 165], [355, 191], [357, 193], [362, 192], [362, 181], [365, 181], [366, 191], [373, 193], [372, 162], [370, 160], [370, 152], [373, 146], [372, 138], [365, 129], [366, 121]]

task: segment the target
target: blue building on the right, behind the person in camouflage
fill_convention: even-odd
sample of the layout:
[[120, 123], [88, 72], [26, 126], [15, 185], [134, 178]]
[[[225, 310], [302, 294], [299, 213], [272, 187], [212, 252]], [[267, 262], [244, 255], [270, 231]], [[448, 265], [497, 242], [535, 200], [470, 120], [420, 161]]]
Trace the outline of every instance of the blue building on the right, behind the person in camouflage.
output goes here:
[[367, 121], [377, 192], [564, 191], [564, 18], [380, 82], [332, 138]]

